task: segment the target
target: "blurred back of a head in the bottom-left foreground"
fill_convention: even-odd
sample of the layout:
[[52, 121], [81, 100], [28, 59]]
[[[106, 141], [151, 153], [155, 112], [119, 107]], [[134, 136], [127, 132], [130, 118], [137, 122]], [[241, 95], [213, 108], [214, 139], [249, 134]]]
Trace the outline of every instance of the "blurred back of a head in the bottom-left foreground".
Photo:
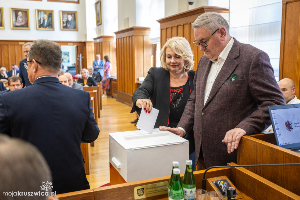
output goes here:
[[[55, 194], [41, 188], [44, 182], [51, 186], [51, 171], [41, 152], [29, 142], [0, 134], [0, 169], [0, 182], [5, 183], [0, 184], [1, 199], [47, 200]], [[18, 195], [21, 192], [23, 195]]]

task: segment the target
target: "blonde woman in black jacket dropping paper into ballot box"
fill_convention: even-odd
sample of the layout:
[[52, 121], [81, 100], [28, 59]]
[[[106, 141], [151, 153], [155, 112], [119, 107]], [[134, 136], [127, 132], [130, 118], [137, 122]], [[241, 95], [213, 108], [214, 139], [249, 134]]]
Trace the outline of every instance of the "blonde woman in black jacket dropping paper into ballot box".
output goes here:
[[[133, 94], [131, 112], [151, 112], [159, 110], [154, 128], [177, 126], [187, 100], [193, 91], [195, 71], [193, 52], [189, 42], [183, 37], [167, 40], [161, 48], [161, 67], [150, 68], [142, 85]], [[142, 111], [143, 107], [143, 111]], [[195, 141], [193, 129], [184, 138], [190, 142], [190, 159], [195, 161]], [[193, 168], [195, 168], [193, 162]]]

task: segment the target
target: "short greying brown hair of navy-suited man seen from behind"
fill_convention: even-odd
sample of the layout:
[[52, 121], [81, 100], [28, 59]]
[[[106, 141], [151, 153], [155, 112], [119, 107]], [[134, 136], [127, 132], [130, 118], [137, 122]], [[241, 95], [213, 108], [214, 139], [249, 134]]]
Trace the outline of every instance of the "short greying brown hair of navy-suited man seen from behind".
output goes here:
[[58, 73], [61, 68], [61, 48], [50, 40], [36, 40], [33, 42], [28, 59], [40, 62], [42, 69], [51, 73]]

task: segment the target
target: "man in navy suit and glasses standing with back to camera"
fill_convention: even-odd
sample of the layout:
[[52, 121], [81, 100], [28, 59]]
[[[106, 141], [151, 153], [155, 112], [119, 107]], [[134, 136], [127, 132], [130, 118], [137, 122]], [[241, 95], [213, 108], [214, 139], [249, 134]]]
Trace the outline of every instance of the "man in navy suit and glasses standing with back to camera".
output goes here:
[[0, 95], [0, 132], [38, 147], [52, 172], [52, 192], [89, 189], [80, 142], [99, 135], [89, 93], [59, 82], [61, 49], [55, 42], [34, 41], [24, 64], [33, 84]]

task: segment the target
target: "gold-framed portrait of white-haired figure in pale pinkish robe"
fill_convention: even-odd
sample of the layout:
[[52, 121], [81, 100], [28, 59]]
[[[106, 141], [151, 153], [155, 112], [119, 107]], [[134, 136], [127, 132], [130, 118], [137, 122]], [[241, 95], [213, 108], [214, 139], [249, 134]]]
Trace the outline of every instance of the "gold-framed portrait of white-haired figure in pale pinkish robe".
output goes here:
[[10, 8], [11, 29], [30, 30], [29, 9]]

